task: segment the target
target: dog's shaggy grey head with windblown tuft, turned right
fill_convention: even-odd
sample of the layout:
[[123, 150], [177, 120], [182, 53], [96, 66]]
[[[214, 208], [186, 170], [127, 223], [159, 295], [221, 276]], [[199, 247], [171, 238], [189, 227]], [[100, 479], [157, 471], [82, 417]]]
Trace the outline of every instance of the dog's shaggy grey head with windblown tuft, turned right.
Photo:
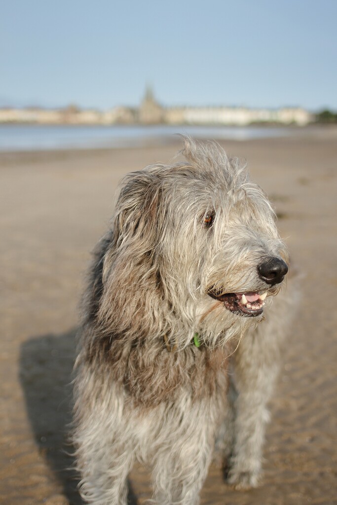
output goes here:
[[274, 212], [237, 159], [185, 139], [183, 162], [128, 175], [103, 268], [101, 320], [215, 345], [262, 320], [287, 273]]

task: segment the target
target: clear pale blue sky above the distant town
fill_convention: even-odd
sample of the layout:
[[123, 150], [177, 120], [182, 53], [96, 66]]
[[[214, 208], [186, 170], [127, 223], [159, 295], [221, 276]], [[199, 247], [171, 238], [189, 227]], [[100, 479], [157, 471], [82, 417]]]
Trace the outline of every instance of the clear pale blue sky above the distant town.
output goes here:
[[0, 106], [337, 110], [337, 0], [3, 0]]

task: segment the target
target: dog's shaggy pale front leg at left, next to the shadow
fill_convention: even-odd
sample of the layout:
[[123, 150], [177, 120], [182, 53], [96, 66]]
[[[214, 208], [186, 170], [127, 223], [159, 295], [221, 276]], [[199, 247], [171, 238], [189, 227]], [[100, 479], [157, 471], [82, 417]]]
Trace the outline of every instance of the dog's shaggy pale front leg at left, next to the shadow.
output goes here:
[[126, 505], [127, 477], [134, 461], [134, 426], [122, 415], [123, 397], [113, 383], [105, 401], [95, 398], [97, 383], [89, 373], [78, 381], [81, 401], [77, 403], [74, 443], [80, 493], [85, 502], [95, 505]]

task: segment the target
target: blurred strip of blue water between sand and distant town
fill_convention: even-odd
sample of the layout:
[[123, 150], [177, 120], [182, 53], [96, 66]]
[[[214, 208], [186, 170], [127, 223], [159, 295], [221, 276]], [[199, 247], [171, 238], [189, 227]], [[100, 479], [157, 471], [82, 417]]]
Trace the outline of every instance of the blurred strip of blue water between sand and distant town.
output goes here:
[[292, 130], [260, 126], [0, 124], [0, 151], [136, 147], [173, 141], [176, 133], [200, 139], [250, 140], [290, 135]]

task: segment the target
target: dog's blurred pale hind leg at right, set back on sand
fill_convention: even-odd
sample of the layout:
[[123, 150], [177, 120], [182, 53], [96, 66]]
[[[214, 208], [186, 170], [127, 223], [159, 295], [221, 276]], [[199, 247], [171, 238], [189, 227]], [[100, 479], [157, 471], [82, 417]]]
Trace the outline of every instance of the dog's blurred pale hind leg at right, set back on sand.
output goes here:
[[[228, 482], [255, 487], [261, 472], [267, 402], [275, 386], [284, 337], [295, 315], [297, 293], [287, 290], [273, 301], [266, 321], [250, 330], [234, 356], [234, 441]], [[266, 311], [267, 312], [267, 311]]]

